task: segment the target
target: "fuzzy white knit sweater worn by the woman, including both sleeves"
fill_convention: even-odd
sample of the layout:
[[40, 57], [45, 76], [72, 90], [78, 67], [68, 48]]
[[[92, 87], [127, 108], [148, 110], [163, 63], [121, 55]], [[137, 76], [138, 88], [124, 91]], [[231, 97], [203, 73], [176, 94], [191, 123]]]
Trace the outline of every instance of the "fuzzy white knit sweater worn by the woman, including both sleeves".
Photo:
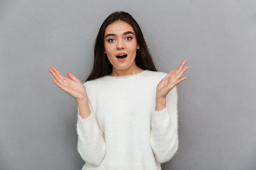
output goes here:
[[82, 170], [161, 170], [178, 148], [177, 89], [155, 111], [156, 87], [166, 73], [104, 76], [85, 82], [91, 114], [78, 114]]

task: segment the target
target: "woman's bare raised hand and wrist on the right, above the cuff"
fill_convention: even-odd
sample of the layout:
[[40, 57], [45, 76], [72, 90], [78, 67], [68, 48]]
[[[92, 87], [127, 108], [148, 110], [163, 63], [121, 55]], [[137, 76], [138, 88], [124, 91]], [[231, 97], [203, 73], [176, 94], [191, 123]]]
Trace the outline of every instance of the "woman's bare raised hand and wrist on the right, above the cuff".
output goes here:
[[171, 70], [157, 85], [156, 110], [162, 110], [166, 105], [166, 96], [175, 86], [187, 77], [182, 77], [189, 66], [185, 66], [188, 60], [182, 60], [177, 70]]

